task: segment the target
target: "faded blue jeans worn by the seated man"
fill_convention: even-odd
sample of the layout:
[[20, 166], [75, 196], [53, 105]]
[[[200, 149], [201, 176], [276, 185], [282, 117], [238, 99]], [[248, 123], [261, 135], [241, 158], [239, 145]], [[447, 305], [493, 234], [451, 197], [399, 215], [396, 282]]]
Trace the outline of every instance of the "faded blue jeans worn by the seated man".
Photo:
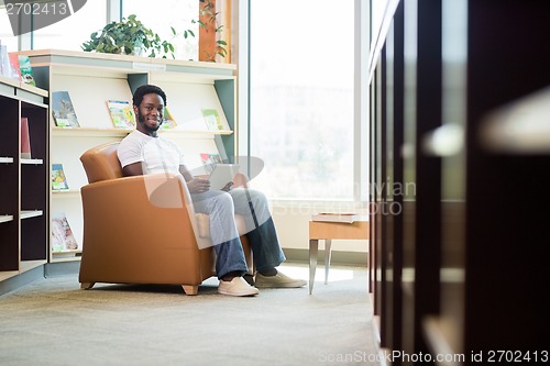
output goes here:
[[218, 278], [233, 271], [240, 275], [248, 271], [234, 221], [235, 213], [244, 218], [245, 235], [258, 271], [277, 267], [286, 259], [263, 193], [238, 188], [230, 192], [212, 190], [191, 195], [191, 199], [195, 212], [210, 215], [210, 236], [217, 255]]

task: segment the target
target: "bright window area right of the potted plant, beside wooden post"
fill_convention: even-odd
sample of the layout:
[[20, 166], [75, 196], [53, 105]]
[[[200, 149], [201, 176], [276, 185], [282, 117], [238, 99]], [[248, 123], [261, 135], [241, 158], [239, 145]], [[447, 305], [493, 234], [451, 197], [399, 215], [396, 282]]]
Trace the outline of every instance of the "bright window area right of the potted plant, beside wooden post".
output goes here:
[[[124, 1], [122, 4], [123, 16], [138, 15], [146, 27], [157, 33], [161, 40], [168, 41], [175, 47], [177, 59], [198, 59], [198, 23], [191, 24], [193, 20], [199, 18], [198, 0], [155, 0], [154, 7], [151, 1]], [[174, 37], [170, 26], [176, 30]], [[191, 30], [195, 37], [184, 38], [184, 31]]]

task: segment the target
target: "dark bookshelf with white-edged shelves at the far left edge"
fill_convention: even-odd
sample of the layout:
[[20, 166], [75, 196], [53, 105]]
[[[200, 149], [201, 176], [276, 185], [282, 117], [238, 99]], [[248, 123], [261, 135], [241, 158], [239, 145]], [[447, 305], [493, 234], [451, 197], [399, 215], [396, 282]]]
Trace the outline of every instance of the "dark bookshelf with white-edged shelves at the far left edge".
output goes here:
[[[0, 280], [47, 263], [47, 90], [0, 77]], [[32, 158], [20, 157], [26, 130]]]

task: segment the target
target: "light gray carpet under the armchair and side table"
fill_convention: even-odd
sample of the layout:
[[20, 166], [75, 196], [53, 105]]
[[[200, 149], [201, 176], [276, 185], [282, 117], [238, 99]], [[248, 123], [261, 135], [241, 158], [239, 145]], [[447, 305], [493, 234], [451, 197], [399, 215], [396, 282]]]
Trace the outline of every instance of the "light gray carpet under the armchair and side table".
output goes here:
[[[307, 267], [285, 265], [307, 279]], [[254, 298], [48, 277], [0, 297], [0, 365], [377, 365], [365, 268]]]

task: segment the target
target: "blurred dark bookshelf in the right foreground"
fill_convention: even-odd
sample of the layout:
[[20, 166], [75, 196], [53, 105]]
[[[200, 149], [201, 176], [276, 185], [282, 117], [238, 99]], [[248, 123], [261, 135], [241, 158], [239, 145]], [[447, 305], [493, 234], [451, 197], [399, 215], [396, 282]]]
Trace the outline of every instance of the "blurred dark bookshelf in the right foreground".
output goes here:
[[549, 15], [543, 0], [400, 1], [373, 31], [370, 184], [415, 185], [372, 197], [403, 206], [371, 219], [384, 348], [433, 365], [547, 356]]

